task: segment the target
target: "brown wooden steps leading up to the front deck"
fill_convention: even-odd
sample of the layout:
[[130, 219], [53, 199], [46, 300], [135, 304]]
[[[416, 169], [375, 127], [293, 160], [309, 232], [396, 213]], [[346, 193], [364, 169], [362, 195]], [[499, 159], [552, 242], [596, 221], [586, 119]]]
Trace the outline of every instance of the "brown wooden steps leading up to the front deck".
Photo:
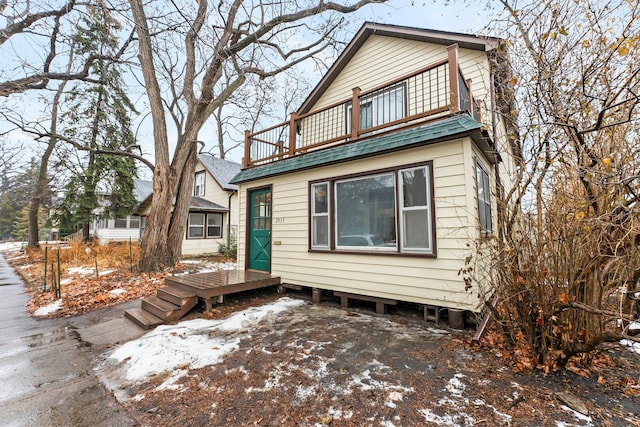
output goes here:
[[124, 315], [138, 326], [149, 329], [161, 323], [181, 319], [198, 303], [195, 293], [173, 286], [158, 288], [156, 295], [142, 298], [140, 308], [126, 310]]

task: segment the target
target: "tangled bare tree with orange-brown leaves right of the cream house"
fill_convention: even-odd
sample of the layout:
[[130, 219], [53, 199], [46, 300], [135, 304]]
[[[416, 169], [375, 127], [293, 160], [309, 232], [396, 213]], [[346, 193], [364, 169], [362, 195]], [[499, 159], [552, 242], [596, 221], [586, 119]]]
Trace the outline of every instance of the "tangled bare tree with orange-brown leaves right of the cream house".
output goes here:
[[500, 205], [494, 313], [523, 369], [554, 369], [638, 340], [640, 5], [500, 2], [522, 162]]

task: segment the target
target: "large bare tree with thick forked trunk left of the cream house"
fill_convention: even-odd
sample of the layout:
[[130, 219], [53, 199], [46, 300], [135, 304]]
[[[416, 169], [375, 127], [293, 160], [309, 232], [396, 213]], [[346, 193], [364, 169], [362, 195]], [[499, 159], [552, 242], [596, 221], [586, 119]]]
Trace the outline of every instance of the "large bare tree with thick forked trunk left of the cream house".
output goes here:
[[[130, 0], [153, 120], [156, 160], [153, 203], [142, 241], [142, 269], [172, 265], [181, 254], [199, 132], [213, 112], [248, 76], [273, 77], [331, 46], [334, 32], [342, 24], [341, 14], [382, 1], [346, 5], [235, 0], [210, 5], [202, 0], [195, 9], [181, 7], [167, 14], [165, 7], [152, 10], [141, 0]], [[162, 22], [162, 28], [173, 28], [172, 34], [181, 33], [184, 40], [154, 35], [162, 32]], [[165, 91], [165, 87], [170, 89]], [[172, 157], [167, 112], [178, 130]], [[167, 206], [174, 200], [171, 211]]]

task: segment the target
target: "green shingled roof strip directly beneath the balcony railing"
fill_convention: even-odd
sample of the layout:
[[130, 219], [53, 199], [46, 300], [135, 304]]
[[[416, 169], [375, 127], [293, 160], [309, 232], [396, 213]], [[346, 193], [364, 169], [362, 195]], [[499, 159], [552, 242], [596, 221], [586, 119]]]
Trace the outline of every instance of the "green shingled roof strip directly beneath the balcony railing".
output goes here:
[[363, 141], [351, 142], [336, 147], [311, 151], [278, 162], [256, 166], [240, 171], [230, 182], [254, 181], [256, 179], [312, 169], [319, 166], [344, 163], [378, 154], [434, 144], [454, 137], [470, 136], [495, 161], [493, 144], [482, 125], [468, 114], [459, 114], [424, 126], [392, 132]]

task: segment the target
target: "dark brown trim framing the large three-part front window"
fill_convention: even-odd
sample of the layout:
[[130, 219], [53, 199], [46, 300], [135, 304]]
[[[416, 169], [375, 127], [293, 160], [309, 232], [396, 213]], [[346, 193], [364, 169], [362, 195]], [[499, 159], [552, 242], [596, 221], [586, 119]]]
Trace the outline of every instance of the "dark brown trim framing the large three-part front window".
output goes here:
[[[400, 206], [400, 191], [398, 190], [398, 185], [400, 183], [399, 181], [399, 174], [400, 171], [403, 170], [408, 170], [408, 169], [416, 169], [419, 167], [426, 167], [428, 172], [428, 182], [427, 182], [427, 188], [429, 191], [429, 199], [428, 199], [428, 203], [429, 203], [429, 218], [430, 218], [430, 226], [431, 226], [431, 230], [430, 230], [430, 235], [431, 235], [431, 251], [417, 251], [417, 250], [403, 250], [402, 246], [403, 246], [403, 242], [402, 242], [402, 236], [400, 236], [400, 218], [399, 218], [399, 206]], [[375, 176], [375, 175], [383, 175], [385, 173], [390, 173], [392, 172], [394, 174], [394, 192], [395, 192], [395, 210], [396, 210], [396, 217], [395, 217], [395, 226], [396, 226], [396, 248], [394, 250], [370, 250], [370, 249], [353, 249], [353, 247], [349, 248], [349, 249], [345, 249], [345, 248], [338, 248], [336, 246], [336, 207], [335, 207], [335, 197], [336, 197], [336, 192], [335, 192], [335, 184], [338, 181], [345, 181], [348, 179], [356, 179], [356, 178], [365, 178], [365, 177], [369, 177], [369, 176]], [[311, 224], [312, 224], [312, 216], [311, 216], [311, 203], [312, 203], [312, 185], [314, 184], [320, 184], [320, 183], [328, 183], [329, 184], [329, 193], [330, 193], [330, 198], [329, 198], [329, 247], [328, 248], [318, 248], [318, 247], [313, 247], [312, 246], [312, 230], [311, 230]], [[411, 164], [406, 164], [406, 165], [399, 165], [396, 167], [392, 167], [392, 168], [385, 168], [385, 169], [376, 169], [376, 170], [370, 170], [370, 171], [366, 171], [366, 172], [361, 172], [361, 173], [354, 173], [354, 174], [348, 174], [348, 175], [341, 175], [341, 176], [334, 176], [334, 177], [330, 177], [330, 178], [325, 178], [325, 179], [319, 179], [319, 180], [313, 180], [313, 181], [309, 181], [309, 192], [307, 195], [308, 198], [308, 252], [322, 252], [322, 253], [340, 253], [340, 254], [367, 254], [367, 255], [382, 255], [382, 256], [403, 256], [403, 257], [420, 257], [420, 258], [437, 258], [438, 255], [438, 250], [437, 250], [437, 239], [436, 239], [436, 214], [435, 214], [435, 192], [434, 192], [434, 175], [433, 175], [433, 160], [428, 160], [428, 161], [424, 161], [424, 162], [419, 162], [419, 163], [411, 163]]]

